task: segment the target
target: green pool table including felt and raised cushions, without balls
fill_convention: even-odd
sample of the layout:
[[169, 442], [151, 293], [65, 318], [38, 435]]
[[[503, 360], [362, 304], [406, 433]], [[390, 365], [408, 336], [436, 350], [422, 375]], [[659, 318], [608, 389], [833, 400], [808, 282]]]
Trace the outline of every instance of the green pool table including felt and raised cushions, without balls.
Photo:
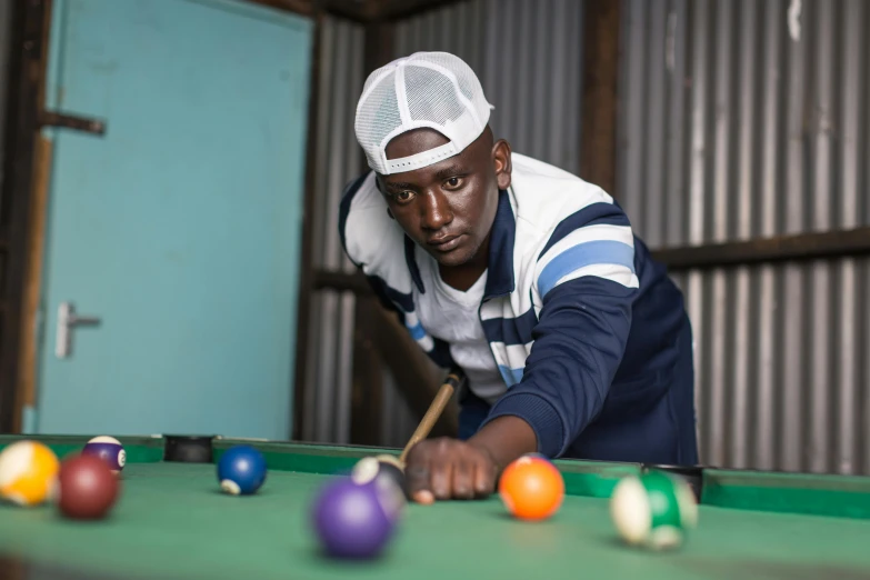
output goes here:
[[[18, 439], [0, 437], [0, 448]], [[34, 439], [62, 459], [88, 438]], [[870, 478], [704, 469], [697, 530], [681, 549], [651, 553], [623, 546], [608, 513], [619, 479], [644, 466], [557, 461], [567, 496], [551, 520], [513, 520], [497, 496], [412, 504], [381, 558], [342, 562], [317, 548], [311, 499], [383, 449], [248, 441], [269, 476], [258, 494], [232, 497], [213, 462], [238, 440], [190, 452], [184, 438], [118, 439], [128, 463], [108, 519], [0, 507], [0, 578], [870, 579]]]

